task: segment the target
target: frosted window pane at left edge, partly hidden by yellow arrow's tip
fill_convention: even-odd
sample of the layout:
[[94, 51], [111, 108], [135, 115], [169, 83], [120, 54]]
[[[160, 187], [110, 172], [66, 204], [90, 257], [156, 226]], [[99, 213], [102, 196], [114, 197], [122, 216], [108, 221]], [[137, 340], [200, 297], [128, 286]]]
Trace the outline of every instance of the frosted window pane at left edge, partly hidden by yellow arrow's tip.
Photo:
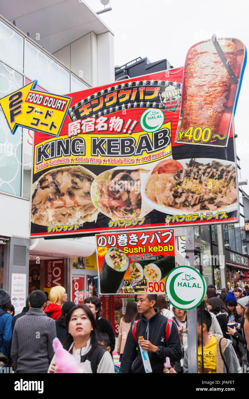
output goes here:
[[[23, 77], [4, 63], [0, 62], [0, 97], [19, 89]], [[15, 134], [0, 111], [0, 191], [21, 196], [22, 179], [22, 129]]]

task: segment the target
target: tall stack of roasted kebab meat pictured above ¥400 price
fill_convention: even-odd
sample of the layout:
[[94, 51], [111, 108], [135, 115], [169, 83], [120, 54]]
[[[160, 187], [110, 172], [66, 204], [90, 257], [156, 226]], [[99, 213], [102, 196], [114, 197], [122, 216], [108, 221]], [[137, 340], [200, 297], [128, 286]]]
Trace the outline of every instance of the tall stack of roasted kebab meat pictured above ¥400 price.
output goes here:
[[[218, 40], [218, 43], [234, 71], [237, 63], [235, 44], [230, 40]], [[218, 134], [230, 86], [231, 77], [213, 42], [204, 41], [192, 47], [184, 69], [182, 122], [179, 130], [186, 131], [190, 126], [201, 126], [211, 128], [212, 136]], [[183, 141], [189, 142], [187, 138], [183, 138], [181, 142]], [[217, 141], [217, 138], [213, 141]], [[200, 143], [203, 142], [199, 141], [198, 144]]]

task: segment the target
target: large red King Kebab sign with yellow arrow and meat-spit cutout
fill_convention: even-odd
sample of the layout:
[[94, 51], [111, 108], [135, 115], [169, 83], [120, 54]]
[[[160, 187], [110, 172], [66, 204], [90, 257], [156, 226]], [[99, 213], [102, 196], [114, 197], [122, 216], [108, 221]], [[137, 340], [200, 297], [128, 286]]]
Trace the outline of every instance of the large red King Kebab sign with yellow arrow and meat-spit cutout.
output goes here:
[[181, 68], [63, 98], [30, 83], [0, 100], [12, 132], [36, 129], [30, 236], [235, 223], [245, 55], [238, 39], [212, 39]]

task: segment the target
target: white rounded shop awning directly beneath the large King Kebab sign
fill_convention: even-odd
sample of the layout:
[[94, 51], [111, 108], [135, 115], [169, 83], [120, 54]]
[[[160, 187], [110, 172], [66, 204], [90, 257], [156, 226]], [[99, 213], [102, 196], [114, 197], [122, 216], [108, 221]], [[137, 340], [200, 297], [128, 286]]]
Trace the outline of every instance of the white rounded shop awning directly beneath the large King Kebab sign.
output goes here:
[[44, 240], [30, 239], [30, 254], [58, 258], [90, 256], [96, 249], [95, 237]]

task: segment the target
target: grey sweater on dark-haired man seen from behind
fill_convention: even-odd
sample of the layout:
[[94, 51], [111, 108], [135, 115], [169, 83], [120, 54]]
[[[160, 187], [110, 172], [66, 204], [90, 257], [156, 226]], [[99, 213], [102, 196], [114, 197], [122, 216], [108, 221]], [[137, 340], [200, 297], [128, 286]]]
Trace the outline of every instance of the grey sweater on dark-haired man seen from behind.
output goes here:
[[13, 331], [11, 356], [18, 373], [47, 373], [54, 356], [55, 321], [42, 309], [30, 308], [18, 318]]

